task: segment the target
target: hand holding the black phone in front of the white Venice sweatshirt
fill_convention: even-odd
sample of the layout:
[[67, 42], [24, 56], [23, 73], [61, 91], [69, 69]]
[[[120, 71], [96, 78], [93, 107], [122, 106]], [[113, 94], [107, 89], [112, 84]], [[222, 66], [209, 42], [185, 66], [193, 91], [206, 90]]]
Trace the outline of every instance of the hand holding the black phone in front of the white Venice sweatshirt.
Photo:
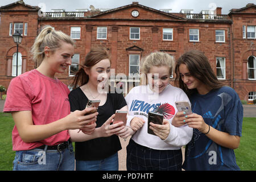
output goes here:
[[162, 140], [165, 140], [170, 133], [170, 123], [167, 119], [163, 120], [163, 125], [156, 125], [150, 122], [150, 129], [153, 130], [154, 133]]

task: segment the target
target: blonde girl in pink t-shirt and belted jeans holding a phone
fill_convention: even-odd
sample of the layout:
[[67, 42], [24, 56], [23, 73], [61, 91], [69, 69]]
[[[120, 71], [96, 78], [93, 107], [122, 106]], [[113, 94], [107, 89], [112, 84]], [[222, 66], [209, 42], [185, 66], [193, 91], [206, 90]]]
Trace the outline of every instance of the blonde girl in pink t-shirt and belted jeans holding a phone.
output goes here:
[[13, 170], [74, 170], [68, 130], [92, 133], [98, 114], [85, 115], [95, 108], [70, 113], [69, 90], [55, 77], [71, 65], [74, 42], [47, 26], [36, 38], [32, 53], [38, 68], [11, 80], [3, 110], [15, 122]]

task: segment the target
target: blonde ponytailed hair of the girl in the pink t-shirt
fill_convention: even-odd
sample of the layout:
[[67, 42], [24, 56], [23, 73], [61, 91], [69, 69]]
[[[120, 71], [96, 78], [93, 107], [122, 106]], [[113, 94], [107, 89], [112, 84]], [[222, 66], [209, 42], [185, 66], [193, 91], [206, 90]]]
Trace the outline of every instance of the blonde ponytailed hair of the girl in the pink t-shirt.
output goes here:
[[47, 46], [51, 51], [55, 51], [61, 47], [61, 41], [69, 43], [72, 46], [75, 45], [71, 37], [67, 34], [61, 31], [55, 31], [51, 26], [43, 27], [31, 49], [33, 59], [37, 65], [40, 65], [45, 57], [44, 48]]

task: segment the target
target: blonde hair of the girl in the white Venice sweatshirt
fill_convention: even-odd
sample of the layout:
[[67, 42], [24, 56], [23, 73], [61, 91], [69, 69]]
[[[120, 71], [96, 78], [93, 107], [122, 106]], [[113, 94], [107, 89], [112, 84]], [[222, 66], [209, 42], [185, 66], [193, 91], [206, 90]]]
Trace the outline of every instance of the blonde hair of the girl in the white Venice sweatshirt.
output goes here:
[[172, 56], [164, 52], [152, 52], [150, 55], [143, 57], [141, 60], [141, 85], [147, 84], [147, 74], [150, 72], [151, 67], [167, 66], [169, 73], [172, 75], [175, 61]]

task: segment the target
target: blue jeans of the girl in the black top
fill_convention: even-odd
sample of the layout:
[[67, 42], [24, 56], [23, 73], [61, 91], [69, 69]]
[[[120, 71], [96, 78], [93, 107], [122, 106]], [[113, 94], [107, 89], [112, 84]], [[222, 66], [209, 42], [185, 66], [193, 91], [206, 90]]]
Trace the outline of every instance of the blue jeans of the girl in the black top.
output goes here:
[[103, 160], [76, 160], [76, 171], [118, 171], [118, 153]]

